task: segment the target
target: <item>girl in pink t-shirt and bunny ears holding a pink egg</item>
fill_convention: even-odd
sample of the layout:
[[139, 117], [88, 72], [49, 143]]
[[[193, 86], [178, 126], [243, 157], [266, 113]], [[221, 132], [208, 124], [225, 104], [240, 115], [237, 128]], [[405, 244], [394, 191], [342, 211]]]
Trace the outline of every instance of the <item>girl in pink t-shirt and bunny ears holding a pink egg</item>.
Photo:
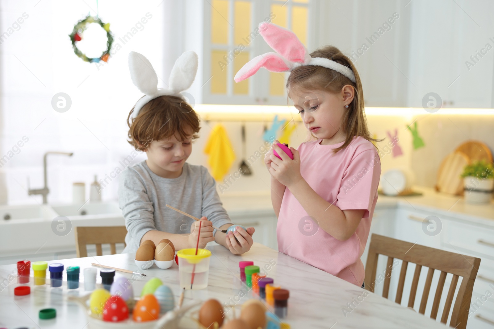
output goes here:
[[278, 217], [280, 252], [363, 287], [364, 252], [381, 173], [364, 115], [359, 74], [336, 47], [310, 55], [298, 38], [274, 24], [259, 26], [278, 53], [254, 58], [240, 81], [260, 67], [290, 71], [288, 97], [310, 140], [290, 147], [293, 160], [276, 144], [265, 156], [271, 200]]

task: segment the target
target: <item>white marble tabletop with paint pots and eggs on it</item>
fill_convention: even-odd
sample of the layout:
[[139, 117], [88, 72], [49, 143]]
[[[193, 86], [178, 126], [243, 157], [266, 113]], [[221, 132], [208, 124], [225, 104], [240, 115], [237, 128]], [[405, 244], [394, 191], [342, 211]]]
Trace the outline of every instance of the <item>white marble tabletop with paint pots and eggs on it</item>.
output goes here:
[[[238, 300], [241, 290], [246, 291], [241, 287], [238, 279], [240, 260], [252, 260], [261, 268], [265, 264], [276, 262], [268, 271], [268, 276], [274, 279], [275, 284], [290, 291], [288, 317], [284, 322], [290, 324], [291, 328], [447, 328], [392, 300], [364, 291], [360, 287], [260, 244], [254, 244], [251, 250], [242, 256], [234, 256], [219, 245], [208, 246], [208, 249], [212, 252], [208, 287], [199, 291], [186, 291], [184, 303], [192, 299], [208, 298], [216, 298], [222, 303], [234, 303], [235, 299]], [[49, 263], [61, 262], [65, 266], [80, 266], [82, 271], [82, 268], [90, 267], [91, 262], [95, 262], [135, 271], [137, 267], [133, 256], [130, 254], [95, 256], [49, 261]], [[16, 273], [16, 265], [0, 266], [0, 328], [84, 329], [86, 327], [83, 308], [67, 301], [66, 288], [61, 290], [48, 285], [32, 286], [30, 295], [14, 296], [13, 290], [18, 284], [17, 279], [12, 280], [11, 275], [15, 276]], [[133, 283], [135, 295], [139, 294], [147, 280], [158, 277], [172, 289], [178, 300], [180, 287], [176, 264], [166, 270], [153, 266], [144, 273], [146, 277], [139, 278]], [[33, 271], [31, 271], [32, 275]], [[132, 277], [132, 274], [123, 272], [117, 272], [118, 275], [129, 279]], [[5, 287], [9, 279], [12, 281]], [[99, 271], [98, 279], [101, 282]], [[82, 288], [70, 293], [81, 295], [86, 293], [83, 291], [82, 275], [80, 281]], [[32, 284], [33, 278], [30, 280], [30, 285]], [[239, 303], [242, 304], [250, 297], [249, 292]], [[347, 303], [354, 305], [353, 310], [348, 308]], [[56, 319], [38, 318], [39, 310], [46, 307], [57, 310]], [[350, 311], [346, 316], [343, 312], [345, 307]]]

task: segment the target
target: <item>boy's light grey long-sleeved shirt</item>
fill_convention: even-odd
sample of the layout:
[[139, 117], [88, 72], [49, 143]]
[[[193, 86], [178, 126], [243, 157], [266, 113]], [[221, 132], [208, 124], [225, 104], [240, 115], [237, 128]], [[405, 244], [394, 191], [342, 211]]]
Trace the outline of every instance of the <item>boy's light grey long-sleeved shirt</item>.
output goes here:
[[119, 178], [119, 206], [127, 227], [123, 253], [135, 254], [150, 230], [190, 233], [194, 219], [167, 204], [197, 218], [206, 216], [216, 227], [231, 223], [206, 167], [185, 162], [182, 175], [170, 179], [153, 173], [144, 160], [127, 167]]

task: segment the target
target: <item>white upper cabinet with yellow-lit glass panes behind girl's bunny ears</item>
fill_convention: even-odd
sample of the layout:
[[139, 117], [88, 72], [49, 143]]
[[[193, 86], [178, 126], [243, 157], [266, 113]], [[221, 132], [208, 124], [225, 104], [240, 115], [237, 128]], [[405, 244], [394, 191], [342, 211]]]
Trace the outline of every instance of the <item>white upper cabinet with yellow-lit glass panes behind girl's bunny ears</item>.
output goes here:
[[[314, 50], [318, 0], [209, 0], [204, 5], [204, 104], [287, 105], [288, 73], [261, 68], [236, 83], [235, 74], [252, 58], [273, 51], [259, 23], [293, 31]], [[288, 103], [287, 103], [288, 102]]]

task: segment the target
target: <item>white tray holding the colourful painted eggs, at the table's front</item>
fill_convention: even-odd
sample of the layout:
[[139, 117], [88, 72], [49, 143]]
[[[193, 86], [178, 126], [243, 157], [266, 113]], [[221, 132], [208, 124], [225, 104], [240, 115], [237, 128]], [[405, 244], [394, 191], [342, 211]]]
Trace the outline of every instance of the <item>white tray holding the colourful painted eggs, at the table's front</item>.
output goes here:
[[[129, 318], [124, 321], [110, 322], [103, 321], [102, 316], [98, 316], [91, 312], [88, 306], [88, 300], [91, 294], [87, 294], [82, 297], [69, 296], [69, 300], [77, 301], [84, 307], [84, 314], [86, 320], [89, 323], [88, 329], [179, 329], [179, 324], [185, 313], [192, 308], [202, 304], [202, 301], [191, 301], [187, 305], [181, 307], [175, 306], [171, 311], [166, 312], [155, 321], [135, 322], [132, 320], [132, 314], [129, 314]], [[189, 326], [187, 327], [189, 328]], [[193, 327], [192, 327], [193, 328]]]

